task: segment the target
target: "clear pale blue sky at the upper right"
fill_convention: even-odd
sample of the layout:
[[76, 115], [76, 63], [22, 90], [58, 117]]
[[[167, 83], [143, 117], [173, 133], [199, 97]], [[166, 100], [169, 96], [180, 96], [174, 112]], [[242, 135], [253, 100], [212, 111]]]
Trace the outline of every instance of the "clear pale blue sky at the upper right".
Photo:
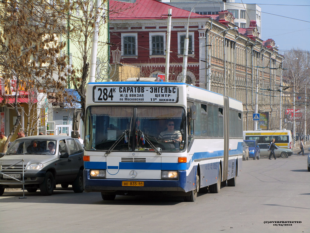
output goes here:
[[281, 54], [292, 48], [310, 51], [310, 0], [235, 0], [235, 2], [255, 3], [261, 7], [261, 39], [273, 39], [276, 45], [279, 45]]

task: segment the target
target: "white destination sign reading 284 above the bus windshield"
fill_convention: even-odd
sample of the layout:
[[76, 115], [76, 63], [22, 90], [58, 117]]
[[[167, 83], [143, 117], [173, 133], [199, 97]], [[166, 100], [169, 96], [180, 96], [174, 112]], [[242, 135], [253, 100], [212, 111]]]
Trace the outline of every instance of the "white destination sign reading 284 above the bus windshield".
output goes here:
[[94, 102], [148, 102], [176, 103], [178, 87], [175, 86], [95, 86]]

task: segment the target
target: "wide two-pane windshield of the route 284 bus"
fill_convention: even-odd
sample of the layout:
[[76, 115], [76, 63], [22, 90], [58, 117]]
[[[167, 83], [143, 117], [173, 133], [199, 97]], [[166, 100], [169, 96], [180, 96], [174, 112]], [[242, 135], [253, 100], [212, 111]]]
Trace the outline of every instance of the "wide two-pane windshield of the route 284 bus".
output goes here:
[[85, 119], [86, 150], [185, 150], [186, 114], [182, 107], [91, 106]]

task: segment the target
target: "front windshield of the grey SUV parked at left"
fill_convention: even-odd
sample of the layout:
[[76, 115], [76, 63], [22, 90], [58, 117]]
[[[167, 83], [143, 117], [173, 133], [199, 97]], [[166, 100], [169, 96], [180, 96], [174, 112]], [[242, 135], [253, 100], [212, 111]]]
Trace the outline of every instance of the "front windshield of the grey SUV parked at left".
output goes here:
[[55, 154], [56, 141], [47, 139], [16, 140], [8, 148], [7, 154]]

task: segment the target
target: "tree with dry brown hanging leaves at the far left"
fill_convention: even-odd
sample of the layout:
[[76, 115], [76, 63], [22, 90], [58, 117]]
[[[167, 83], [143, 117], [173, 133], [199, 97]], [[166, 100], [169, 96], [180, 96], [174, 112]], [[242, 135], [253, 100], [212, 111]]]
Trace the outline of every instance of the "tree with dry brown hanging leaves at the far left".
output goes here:
[[[19, 98], [25, 98], [26, 93], [31, 98], [38, 91], [48, 93], [55, 89], [59, 101], [65, 96], [70, 70], [67, 55], [61, 53], [65, 43], [59, 41], [58, 35], [66, 34], [62, 17], [69, 11], [69, 4], [58, 0], [53, 5], [45, 0], [4, 0], [0, 11], [1, 79], [10, 90], [8, 95], [2, 95], [2, 105], [13, 107], [17, 116], [5, 148], [20, 124]], [[8, 97], [13, 101], [8, 101]]]

